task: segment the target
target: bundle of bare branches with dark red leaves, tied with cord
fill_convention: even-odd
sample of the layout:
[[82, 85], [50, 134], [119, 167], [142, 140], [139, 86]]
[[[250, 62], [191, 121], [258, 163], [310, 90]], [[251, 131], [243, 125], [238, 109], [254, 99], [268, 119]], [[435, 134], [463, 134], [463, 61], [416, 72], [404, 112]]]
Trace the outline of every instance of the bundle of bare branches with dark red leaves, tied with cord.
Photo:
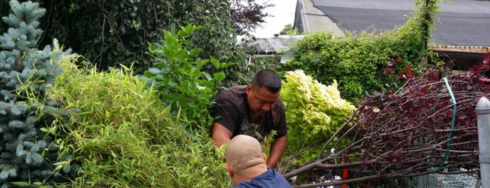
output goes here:
[[[362, 182], [372, 187], [376, 180], [429, 173], [479, 173], [475, 107], [481, 98], [489, 98], [490, 79], [484, 76], [489, 69], [490, 53], [465, 74], [441, 78], [437, 69], [426, 69], [421, 76], [410, 69], [397, 72], [404, 77], [402, 87], [362, 100], [353, 114], [353, 126], [342, 126], [323, 144], [339, 145], [353, 136], [355, 142], [334, 154], [322, 151], [318, 160], [285, 177], [313, 169], [348, 168], [366, 173], [322, 185]], [[340, 160], [348, 163], [337, 165]]]

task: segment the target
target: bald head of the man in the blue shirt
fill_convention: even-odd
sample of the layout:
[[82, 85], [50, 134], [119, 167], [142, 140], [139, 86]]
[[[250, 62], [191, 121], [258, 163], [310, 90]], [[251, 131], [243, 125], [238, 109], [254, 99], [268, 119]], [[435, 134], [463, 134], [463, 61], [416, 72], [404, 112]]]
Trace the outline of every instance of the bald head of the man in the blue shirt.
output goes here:
[[226, 163], [229, 163], [237, 173], [266, 164], [265, 154], [259, 141], [249, 135], [237, 135], [230, 140], [224, 152]]

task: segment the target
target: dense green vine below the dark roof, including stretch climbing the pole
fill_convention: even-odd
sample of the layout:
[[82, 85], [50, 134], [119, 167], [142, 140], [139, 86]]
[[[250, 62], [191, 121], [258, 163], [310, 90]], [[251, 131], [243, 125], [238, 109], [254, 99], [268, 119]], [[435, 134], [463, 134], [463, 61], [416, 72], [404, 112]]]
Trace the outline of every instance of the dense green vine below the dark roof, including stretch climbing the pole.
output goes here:
[[[437, 11], [434, 4], [430, 2], [429, 13]], [[343, 98], [355, 105], [365, 97], [365, 92], [385, 92], [389, 89], [386, 85], [396, 81], [385, 79], [383, 71], [392, 60], [400, 60], [392, 67], [395, 71], [408, 65], [414, 72], [428, 66], [421, 63], [424, 58], [437, 61], [435, 53], [427, 51], [426, 47], [426, 39], [430, 38], [426, 27], [431, 27], [433, 20], [423, 20], [426, 18], [424, 6], [421, 1], [416, 5], [420, 10], [415, 11], [405, 25], [381, 34], [346, 32], [342, 39], [331, 32], [306, 36], [294, 48], [292, 60], [281, 66], [280, 71], [304, 69], [321, 83], [336, 80]]]

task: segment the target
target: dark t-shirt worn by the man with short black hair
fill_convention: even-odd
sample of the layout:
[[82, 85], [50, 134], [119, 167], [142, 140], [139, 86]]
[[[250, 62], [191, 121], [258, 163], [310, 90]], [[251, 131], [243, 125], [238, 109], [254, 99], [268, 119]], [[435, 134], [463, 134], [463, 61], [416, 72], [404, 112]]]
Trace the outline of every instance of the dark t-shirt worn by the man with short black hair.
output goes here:
[[261, 123], [258, 125], [251, 123], [246, 88], [247, 86], [233, 86], [219, 93], [212, 110], [213, 115], [219, 118], [215, 121], [228, 128], [233, 133], [232, 137], [244, 134], [262, 141], [271, 130], [277, 131], [275, 138], [286, 135], [287, 124], [283, 101], [279, 99], [275, 102], [274, 107], [262, 116]]

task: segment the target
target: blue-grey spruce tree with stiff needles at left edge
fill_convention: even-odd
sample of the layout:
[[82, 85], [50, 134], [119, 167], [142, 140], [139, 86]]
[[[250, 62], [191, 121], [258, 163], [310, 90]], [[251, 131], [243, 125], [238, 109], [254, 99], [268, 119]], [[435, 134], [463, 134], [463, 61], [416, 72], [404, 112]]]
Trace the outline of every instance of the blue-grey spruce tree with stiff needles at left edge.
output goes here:
[[42, 98], [46, 86], [62, 72], [56, 61], [72, 54], [62, 51], [57, 41], [53, 47], [36, 49], [42, 34], [38, 20], [46, 13], [38, 3], [9, 4], [12, 13], [2, 20], [11, 28], [0, 36], [0, 185], [67, 182], [74, 170], [66, 166], [58, 172], [54, 164], [69, 156], [59, 157], [53, 139], [41, 131], [50, 119], [35, 113], [57, 108], [29, 99]]

